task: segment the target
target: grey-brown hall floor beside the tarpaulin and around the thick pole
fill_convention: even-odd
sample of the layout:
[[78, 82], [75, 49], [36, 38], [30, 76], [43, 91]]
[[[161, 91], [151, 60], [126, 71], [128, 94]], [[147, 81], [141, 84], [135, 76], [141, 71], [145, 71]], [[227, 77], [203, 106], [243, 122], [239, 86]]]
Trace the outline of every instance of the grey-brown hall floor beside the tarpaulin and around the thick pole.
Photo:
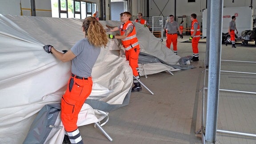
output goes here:
[[[180, 43], [187, 39], [184, 36], [178, 40], [181, 57], [192, 55], [191, 43]], [[141, 77], [154, 95], [143, 88], [132, 93], [129, 105], [109, 113], [109, 121], [103, 128], [112, 142], [94, 124], [79, 127], [84, 144], [202, 143], [201, 134], [195, 132], [202, 126], [205, 49], [206, 43], [199, 43], [200, 61], [191, 62], [196, 68], [173, 72], [174, 76], [160, 72]], [[256, 47], [222, 45], [222, 60], [256, 61], [255, 56]], [[256, 72], [256, 63], [221, 62], [221, 70]], [[256, 92], [255, 86], [253, 74], [220, 74], [220, 89]], [[206, 95], [207, 91], [205, 105]], [[217, 129], [256, 134], [256, 95], [220, 92]], [[216, 144], [256, 144], [256, 138], [218, 132]]]

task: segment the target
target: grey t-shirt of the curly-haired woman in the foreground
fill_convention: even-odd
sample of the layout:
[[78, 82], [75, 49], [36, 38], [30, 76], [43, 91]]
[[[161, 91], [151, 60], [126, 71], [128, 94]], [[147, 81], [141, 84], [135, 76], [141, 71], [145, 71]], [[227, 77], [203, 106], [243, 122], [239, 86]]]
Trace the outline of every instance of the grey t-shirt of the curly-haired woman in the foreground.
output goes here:
[[100, 55], [100, 48], [91, 45], [87, 38], [79, 40], [71, 51], [76, 55], [72, 59], [71, 72], [76, 76], [89, 77], [92, 67]]

